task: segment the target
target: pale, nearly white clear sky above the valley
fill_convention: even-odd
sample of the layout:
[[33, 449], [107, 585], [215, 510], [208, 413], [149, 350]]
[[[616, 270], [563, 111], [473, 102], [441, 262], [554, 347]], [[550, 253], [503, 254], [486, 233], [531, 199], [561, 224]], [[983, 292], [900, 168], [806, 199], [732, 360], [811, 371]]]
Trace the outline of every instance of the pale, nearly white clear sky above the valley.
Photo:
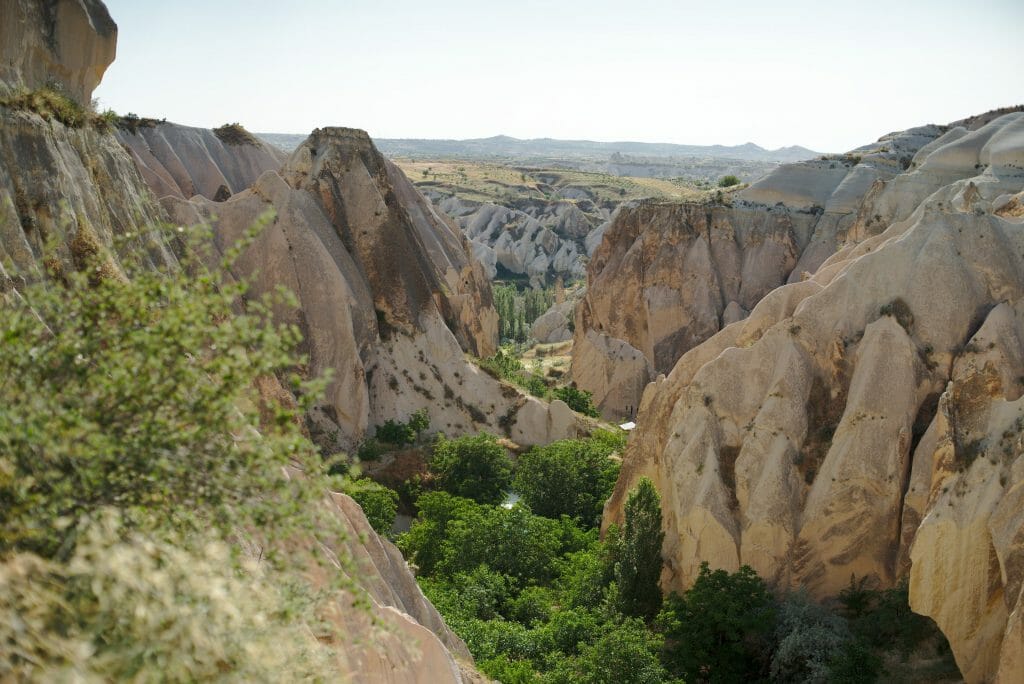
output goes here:
[[1024, 103], [1024, 1], [106, 0], [101, 108], [374, 137], [801, 144]]

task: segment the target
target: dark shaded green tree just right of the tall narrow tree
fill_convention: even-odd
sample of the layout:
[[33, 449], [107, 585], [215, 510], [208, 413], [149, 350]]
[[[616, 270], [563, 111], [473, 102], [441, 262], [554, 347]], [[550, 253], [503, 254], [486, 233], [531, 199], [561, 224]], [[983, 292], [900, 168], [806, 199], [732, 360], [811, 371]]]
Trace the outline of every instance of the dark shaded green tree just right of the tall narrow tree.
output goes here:
[[673, 594], [658, 615], [666, 662], [696, 682], [739, 682], [765, 674], [774, 607], [764, 581], [750, 566], [700, 574], [682, 597]]

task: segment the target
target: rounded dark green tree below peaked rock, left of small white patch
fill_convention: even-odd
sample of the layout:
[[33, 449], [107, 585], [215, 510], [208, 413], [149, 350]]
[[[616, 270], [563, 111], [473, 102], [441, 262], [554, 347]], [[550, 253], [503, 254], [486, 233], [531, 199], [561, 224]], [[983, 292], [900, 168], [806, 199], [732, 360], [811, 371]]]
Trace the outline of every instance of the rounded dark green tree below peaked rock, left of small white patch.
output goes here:
[[480, 503], [503, 501], [512, 483], [508, 452], [484, 432], [455, 439], [438, 435], [428, 465], [441, 489]]

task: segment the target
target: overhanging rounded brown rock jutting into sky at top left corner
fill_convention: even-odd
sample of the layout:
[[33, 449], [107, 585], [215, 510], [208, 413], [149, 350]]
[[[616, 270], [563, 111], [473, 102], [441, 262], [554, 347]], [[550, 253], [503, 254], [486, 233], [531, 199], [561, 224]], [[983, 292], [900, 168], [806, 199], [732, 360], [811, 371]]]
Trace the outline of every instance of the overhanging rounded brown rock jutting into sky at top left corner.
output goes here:
[[58, 83], [88, 104], [117, 40], [118, 27], [99, 0], [2, 0], [0, 89]]

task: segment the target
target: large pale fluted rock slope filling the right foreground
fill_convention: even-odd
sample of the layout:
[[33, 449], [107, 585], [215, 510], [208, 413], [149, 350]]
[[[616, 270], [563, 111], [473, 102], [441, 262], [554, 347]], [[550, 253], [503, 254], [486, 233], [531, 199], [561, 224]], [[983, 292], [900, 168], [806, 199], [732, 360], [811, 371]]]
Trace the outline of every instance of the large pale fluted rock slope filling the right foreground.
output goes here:
[[818, 597], [909, 572], [967, 680], [1018, 681], [1024, 114], [949, 129], [870, 186], [843, 219], [859, 242], [646, 388], [605, 521], [653, 479], [666, 590], [701, 561]]

